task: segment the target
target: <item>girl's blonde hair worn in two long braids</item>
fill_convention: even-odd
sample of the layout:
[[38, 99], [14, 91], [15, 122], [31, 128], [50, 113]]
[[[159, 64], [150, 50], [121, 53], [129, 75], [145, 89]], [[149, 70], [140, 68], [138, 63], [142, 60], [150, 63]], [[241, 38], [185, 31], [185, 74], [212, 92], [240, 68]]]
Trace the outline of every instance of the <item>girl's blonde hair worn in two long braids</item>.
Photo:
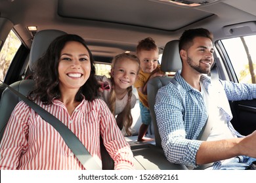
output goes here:
[[[138, 65], [138, 71], [137, 71], [137, 75], [139, 74], [139, 69], [140, 69], [140, 61], [139, 58], [137, 58], [137, 56], [133, 55], [133, 54], [128, 54], [128, 53], [124, 53], [124, 54], [119, 54], [117, 56], [114, 57], [114, 59], [112, 60], [112, 70], [116, 67], [116, 64], [119, 61], [123, 61], [123, 60], [131, 60], [134, 63], [136, 63]], [[115, 87], [115, 83], [114, 83], [114, 78], [111, 76], [111, 82], [112, 82], [112, 87]], [[127, 92], [128, 92], [128, 99], [127, 99], [127, 105], [126, 107], [123, 109], [122, 113], [123, 113], [123, 118], [122, 118], [122, 123], [123, 124], [117, 124], [119, 127], [124, 126], [125, 127], [125, 133], [127, 133], [127, 135], [131, 136], [131, 125], [133, 124], [133, 116], [131, 115], [131, 96], [133, 95], [133, 88], [132, 86], [129, 86], [127, 88]], [[109, 99], [109, 104], [110, 104], [110, 110], [112, 112], [112, 114], [115, 114], [115, 110], [116, 110], [116, 92], [115, 90], [111, 90], [110, 92], [110, 99]]]

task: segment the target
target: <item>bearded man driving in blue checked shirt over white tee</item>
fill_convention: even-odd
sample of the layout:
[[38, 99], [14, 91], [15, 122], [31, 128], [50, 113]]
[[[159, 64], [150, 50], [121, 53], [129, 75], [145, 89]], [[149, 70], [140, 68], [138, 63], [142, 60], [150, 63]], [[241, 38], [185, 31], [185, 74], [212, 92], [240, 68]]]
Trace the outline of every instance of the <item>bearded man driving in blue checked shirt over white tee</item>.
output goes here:
[[[254, 99], [256, 85], [217, 80], [224, 95], [219, 94], [219, 86], [213, 86], [211, 79], [203, 75], [211, 71], [213, 52], [213, 37], [207, 29], [190, 29], [182, 34], [182, 70], [156, 96], [163, 150], [171, 163], [196, 167], [215, 162], [209, 169], [246, 169], [256, 160], [256, 131], [242, 137], [234, 130], [227, 99]], [[209, 137], [200, 141], [208, 116], [213, 122]]]

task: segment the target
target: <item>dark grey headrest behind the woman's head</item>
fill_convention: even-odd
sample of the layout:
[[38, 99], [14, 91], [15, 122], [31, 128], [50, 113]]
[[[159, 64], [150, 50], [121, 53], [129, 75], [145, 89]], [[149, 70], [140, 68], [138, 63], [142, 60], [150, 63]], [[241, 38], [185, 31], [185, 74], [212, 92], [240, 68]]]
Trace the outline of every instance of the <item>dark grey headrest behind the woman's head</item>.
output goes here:
[[30, 50], [30, 70], [33, 71], [33, 65], [37, 59], [41, 58], [46, 52], [51, 42], [60, 35], [65, 35], [64, 31], [49, 29], [42, 30], [35, 34]]

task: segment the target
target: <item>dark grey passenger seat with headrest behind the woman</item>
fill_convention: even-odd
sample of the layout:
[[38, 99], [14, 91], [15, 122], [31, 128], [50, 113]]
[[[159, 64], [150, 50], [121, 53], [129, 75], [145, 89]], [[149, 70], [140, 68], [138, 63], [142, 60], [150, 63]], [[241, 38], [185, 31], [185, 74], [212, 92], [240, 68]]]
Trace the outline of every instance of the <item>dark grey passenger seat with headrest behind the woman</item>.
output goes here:
[[[35, 34], [33, 38], [32, 47], [30, 50], [30, 70], [33, 72], [33, 64], [43, 53], [47, 50], [49, 44], [58, 36], [66, 34], [64, 31], [49, 29], [42, 30]], [[10, 86], [22, 93], [27, 95], [33, 88], [33, 80], [20, 80], [14, 82]], [[3, 137], [3, 132], [9, 118], [11, 116], [12, 110], [20, 102], [21, 99], [18, 98], [14, 93], [12, 93], [8, 88], [2, 93], [0, 101], [0, 142]]]

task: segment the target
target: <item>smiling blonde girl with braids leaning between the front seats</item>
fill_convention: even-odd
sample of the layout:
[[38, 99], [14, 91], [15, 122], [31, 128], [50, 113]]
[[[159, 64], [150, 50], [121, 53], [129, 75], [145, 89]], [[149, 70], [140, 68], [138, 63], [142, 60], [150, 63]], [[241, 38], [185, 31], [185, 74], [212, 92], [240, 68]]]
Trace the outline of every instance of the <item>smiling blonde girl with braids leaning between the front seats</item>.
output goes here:
[[131, 108], [135, 107], [136, 97], [133, 94], [132, 86], [139, 73], [140, 61], [133, 54], [119, 54], [112, 60], [110, 78], [97, 76], [97, 80], [102, 83], [100, 99], [103, 99], [112, 114], [116, 117], [119, 129], [125, 127], [125, 133], [132, 135], [131, 125], [133, 117]]

